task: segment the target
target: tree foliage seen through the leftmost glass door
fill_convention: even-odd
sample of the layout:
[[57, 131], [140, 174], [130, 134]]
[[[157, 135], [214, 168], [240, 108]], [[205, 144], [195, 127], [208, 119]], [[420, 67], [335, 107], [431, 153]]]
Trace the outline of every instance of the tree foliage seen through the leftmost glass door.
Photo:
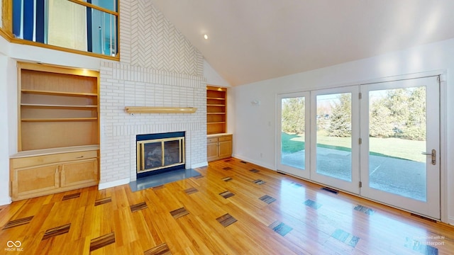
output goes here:
[[282, 100], [282, 131], [304, 133], [304, 97]]

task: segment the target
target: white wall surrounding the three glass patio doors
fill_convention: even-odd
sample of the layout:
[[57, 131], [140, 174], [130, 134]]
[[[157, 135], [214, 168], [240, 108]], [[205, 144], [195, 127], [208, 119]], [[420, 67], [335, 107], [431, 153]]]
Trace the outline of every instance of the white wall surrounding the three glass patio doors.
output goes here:
[[[233, 87], [236, 109], [233, 151], [236, 157], [270, 169], [276, 169], [276, 95], [283, 92], [306, 91], [342, 85], [359, 84], [382, 77], [412, 74], [433, 70], [447, 71], [446, 96], [447, 179], [443, 183], [447, 201], [443, 201], [443, 220], [454, 224], [454, 39], [413, 47], [387, 55], [338, 64], [333, 67], [289, 75]], [[250, 102], [260, 100], [260, 106]], [[269, 125], [270, 124], [270, 125]], [[262, 157], [260, 157], [262, 153]], [[442, 160], [443, 161], [443, 160]]]

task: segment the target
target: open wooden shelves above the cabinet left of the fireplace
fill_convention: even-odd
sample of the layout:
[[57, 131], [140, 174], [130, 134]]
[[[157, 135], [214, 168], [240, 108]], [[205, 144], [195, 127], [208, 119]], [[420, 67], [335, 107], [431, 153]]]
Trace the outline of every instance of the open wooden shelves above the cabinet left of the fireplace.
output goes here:
[[20, 63], [19, 151], [99, 145], [98, 76]]

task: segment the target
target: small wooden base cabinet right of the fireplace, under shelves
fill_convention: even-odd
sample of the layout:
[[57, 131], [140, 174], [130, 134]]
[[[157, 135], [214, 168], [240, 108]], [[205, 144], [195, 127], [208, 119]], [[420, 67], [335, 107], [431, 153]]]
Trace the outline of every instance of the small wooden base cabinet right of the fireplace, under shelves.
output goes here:
[[206, 159], [211, 162], [232, 156], [232, 135], [208, 135], [206, 145]]

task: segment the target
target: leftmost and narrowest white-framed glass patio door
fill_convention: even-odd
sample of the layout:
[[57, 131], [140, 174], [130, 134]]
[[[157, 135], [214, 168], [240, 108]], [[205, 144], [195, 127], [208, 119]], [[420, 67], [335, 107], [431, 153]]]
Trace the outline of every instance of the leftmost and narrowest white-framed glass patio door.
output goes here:
[[278, 170], [309, 178], [306, 166], [309, 120], [306, 120], [309, 109], [306, 107], [309, 94], [285, 94], [279, 96], [279, 133], [280, 145]]

